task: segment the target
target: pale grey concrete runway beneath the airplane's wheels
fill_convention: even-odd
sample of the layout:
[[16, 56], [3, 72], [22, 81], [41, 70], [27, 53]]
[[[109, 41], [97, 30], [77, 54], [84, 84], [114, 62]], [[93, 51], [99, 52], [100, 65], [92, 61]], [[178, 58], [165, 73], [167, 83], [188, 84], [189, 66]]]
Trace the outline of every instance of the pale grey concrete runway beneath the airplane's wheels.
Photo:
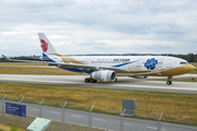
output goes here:
[[81, 87], [101, 87], [117, 90], [137, 90], [137, 91], [154, 91], [170, 93], [189, 93], [197, 94], [196, 82], [174, 82], [166, 85], [165, 81], [136, 80], [126, 76], [118, 76], [115, 83], [84, 83], [84, 79], [89, 75], [33, 75], [33, 74], [0, 74], [0, 81], [20, 82], [20, 83], [37, 83], [69, 85]]

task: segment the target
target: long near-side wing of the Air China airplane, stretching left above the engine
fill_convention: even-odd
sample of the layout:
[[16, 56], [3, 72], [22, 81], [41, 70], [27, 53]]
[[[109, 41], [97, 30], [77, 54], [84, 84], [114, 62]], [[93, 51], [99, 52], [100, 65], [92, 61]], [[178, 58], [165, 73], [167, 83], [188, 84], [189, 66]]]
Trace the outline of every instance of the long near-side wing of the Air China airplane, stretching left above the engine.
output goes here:
[[125, 71], [125, 70], [120, 70], [118, 68], [111, 68], [111, 67], [95, 67], [95, 66], [86, 66], [86, 64], [73, 64], [73, 63], [58, 63], [58, 62], [48, 62], [48, 61], [34, 61], [34, 60], [15, 60], [15, 59], [10, 59], [8, 57], [5, 57], [4, 55], [2, 55], [2, 57], [5, 60], [9, 61], [16, 61], [16, 62], [30, 62], [30, 63], [47, 63], [48, 67], [58, 67], [58, 68], [76, 68], [76, 69], [84, 69], [84, 70], [113, 70], [116, 72], [119, 71]]

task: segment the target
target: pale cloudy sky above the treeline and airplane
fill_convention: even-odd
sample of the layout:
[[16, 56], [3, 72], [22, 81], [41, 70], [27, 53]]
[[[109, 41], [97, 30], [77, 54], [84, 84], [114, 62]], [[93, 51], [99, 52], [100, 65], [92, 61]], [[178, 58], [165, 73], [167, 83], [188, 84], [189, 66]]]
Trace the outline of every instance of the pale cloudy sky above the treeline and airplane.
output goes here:
[[0, 0], [0, 53], [197, 53], [196, 0]]

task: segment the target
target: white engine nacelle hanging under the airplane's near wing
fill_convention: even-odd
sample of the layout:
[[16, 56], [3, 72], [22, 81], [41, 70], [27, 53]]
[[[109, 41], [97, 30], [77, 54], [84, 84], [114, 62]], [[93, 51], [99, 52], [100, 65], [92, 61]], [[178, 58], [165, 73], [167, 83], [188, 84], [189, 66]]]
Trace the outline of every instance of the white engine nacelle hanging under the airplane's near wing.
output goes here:
[[95, 71], [92, 72], [91, 78], [103, 82], [114, 82], [116, 81], [116, 72], [111, 70]]

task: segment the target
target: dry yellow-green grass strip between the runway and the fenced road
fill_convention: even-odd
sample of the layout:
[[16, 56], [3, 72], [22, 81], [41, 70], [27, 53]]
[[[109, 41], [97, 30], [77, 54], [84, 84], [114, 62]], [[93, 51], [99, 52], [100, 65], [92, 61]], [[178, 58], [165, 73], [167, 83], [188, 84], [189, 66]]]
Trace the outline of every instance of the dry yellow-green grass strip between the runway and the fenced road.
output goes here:
[[[160, 93], [146, 91], [125, 91], [89, 88], [58, 85], [0, 82], [1, 96], [8, 99], [25, 96], [25, 103], [44, 100], [44, 105], [59, 106], [68, 102], [66, 108], [83, 109], [94, 105], [93, 111], [118, 115], [121, 112], [123, 98], [137, 99], [138, 118], [158, 119], [163, 112], [165, 121], [197, 123], [197, 95], [178, 93]], [[22, 95], [22, 96], [21, 96]]]

